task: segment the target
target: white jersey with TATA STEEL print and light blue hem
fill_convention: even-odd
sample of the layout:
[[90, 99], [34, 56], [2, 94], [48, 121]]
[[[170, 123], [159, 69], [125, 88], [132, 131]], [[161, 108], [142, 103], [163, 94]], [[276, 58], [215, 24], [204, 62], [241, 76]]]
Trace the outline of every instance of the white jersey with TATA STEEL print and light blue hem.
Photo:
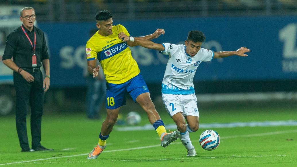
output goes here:
[[169, 55], [164, 78], [162, 93], [164, 94], [193, 94], [195, 93], [193, 78], [201, 62], [209, 62], [214, 57], [214, 52], [201, 48], [191, 57], [186, 53], [185, 45], [170, 43], [162, 44], [165, 50], [160, 52]]

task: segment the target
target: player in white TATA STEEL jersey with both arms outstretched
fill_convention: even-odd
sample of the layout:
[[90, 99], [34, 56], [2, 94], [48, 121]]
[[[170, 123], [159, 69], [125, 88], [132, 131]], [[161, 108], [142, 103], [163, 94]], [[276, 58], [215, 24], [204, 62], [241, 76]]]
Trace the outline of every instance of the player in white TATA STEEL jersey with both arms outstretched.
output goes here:
[[154, 49], [169, 56], [162, 82], [163, 103], [180, 131], [181, 142], [188, 150], [187, 156], [196, 156], [197, 153], [189, 133], [195, 132], [199, 128], [197, 97], [193, 84], [197, 67], [201, 62], [209, 62], [213, 58], [232, 55], [247, 56], [244, 53], [250, 50], [241, 47], [237, 51], [214, 52], [201, 48], [202, 42], [206, 39], [201, 31], [190, 31], [185, 45], [157, 44], [148, 40], [134, 39], [123, 33], [119, 34], [119, 38], [124, 42], [136, 42], [142, 47]]

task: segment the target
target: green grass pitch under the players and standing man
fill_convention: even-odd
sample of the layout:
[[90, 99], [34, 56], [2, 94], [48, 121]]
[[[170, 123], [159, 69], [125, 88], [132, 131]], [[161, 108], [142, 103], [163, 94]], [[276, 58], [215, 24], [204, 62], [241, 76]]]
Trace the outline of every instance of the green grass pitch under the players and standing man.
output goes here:
[[[133, 105], [133, 104], [132, 104]], [[129, 111], [123, 107], [122, 113]], [[164, 107], [159, 114], [172, 124]], [[140, 125], [148, 122], [144, 111]], [[199, 108], [200, 124], [252, 121], [297, 120], [296, 106], [257, 105]], [[297, 126], [211, 128], [221, 143], [216, 150], [203, 150], [198, 144], [202, 131], [190, 133], [197, 157], [186, 157], [187, 150], [178, 139], [167, 148], [160, 146], [155, 130], [118, 131], [116, 125], [106, 149], [96, 160], [87, 154], [98, 142], [102, 120], [87, 120], [84, 113], [45, 113], [42, 119], [42, 145], [55, 149], [20, 152], [14, 116], [0, 117], [0, 166], [296, 166]], [[30, 127], [29, 117], [27, 127]], [[175, 129], [170, 129], [175, 130]], [[31, 141], [30, 130], [28, 132]]]

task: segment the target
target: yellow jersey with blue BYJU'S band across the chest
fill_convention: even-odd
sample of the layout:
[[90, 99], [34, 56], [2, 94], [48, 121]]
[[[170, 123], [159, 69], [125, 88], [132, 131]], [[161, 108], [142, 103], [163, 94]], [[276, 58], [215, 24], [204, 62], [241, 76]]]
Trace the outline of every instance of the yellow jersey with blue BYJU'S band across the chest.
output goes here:
[[112, 34], [106, 37], [97, 31], [86, 44], [88, 61], [99, 60], [102, 66], [100, 70], [103, 69], [108, 83], [124, 83], [140, 73], [127, 42], [118, 37], [120, 32], [130, 36], [127, 29], [119, 24], [112, 26]]

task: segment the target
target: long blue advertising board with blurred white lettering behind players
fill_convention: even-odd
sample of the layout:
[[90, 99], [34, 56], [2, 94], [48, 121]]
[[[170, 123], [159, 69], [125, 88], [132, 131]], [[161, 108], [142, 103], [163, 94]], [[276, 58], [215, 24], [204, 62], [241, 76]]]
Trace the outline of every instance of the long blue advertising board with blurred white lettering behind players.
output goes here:
[[[199, 65], [194, 81], [246, 81], [297, 79], [297, 17], [211, 17], [122, 21], [132, 36], [152, 34], [157, 28], [165, 35], [156, 43], [184, 44], [191, 30], [206, 36], [203, 48], [235, 51], [241, 46], [251, 50], [248, 57], [230, 56]], [[85, 45], [93, 23], [40, 23], [47, 34], [50, 50], [51, 86], [85, 85]], [[161, 83], [168, 56], [140, 46], [131, 48], [147, 83]]]

